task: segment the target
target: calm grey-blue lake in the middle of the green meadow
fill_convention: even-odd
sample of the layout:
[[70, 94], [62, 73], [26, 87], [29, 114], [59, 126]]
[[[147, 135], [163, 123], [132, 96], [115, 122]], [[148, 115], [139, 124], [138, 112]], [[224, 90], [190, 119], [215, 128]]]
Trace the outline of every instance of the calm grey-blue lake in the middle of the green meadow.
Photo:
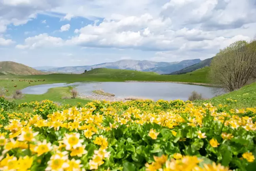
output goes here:
[[145, 83], [145, 82], [103, 82], [103, 83], [56, 83], [48, 85], [36, 85], [24, 88], [24, 94], [44, 94], [49, 88], [60, 86], [76, 86], [81, 95], [90, 96], [93, 90], [103, 90], [115, 94], [117, 98], [141, 97], [144, 99], [164, 100], [188, 100], [191, 92], [201, 93], [203, 98], [216, 96], [213, 88], [198, 85], [186, 85], [178, 83]]

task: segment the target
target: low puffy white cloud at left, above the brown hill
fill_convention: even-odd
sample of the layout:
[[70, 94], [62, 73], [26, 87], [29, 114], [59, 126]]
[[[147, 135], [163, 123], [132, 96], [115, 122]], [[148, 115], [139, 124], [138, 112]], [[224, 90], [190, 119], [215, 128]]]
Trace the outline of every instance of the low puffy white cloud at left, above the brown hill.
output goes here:
[[36, 49], [41, 47], [58, 47], [65, 44], [64, 40], [59, 37], [52, 37], [48, 34], [40, 34], [25, 39], [24, 44], [18, 44], [17, 49]]

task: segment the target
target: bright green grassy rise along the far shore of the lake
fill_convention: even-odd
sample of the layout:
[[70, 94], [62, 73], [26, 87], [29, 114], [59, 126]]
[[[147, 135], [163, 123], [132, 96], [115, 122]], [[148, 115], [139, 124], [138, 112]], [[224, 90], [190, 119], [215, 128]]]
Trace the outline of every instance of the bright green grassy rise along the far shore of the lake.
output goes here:
[[79, 81], [176, 81], [189, 83], [209, 83], [207, 74], [209, 67], [205, 67], [188, 74], [159, 75], [153, 72], [139, 72], [132, 70], [115, 70], [96, 68], [85, 74], [50, 74], [19, 76], [21, 79], [45, 79], [55, 83], [72, 83]]

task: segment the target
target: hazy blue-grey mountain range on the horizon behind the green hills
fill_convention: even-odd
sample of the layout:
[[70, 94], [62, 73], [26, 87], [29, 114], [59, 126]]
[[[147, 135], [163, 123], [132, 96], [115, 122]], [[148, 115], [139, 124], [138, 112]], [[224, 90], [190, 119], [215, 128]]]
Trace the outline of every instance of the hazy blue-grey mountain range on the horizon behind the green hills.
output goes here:
[[154, 62], [154, 61], [138, 61], [138, 60], [120, 60], [112, 63], [102, 63], [92, 66], [66, 66], [60, 68], [51, 68], [49, 72], [62, 72], [62, 73], [76, 73], [81, 74], [85, 70], [91, 70], [92, 68], [110, 68], [110, 69], [124, 69], [124, 70], [137, 70], [156, 72], [158, 74], [168, 74], [173, 71], [183, 69], [184, 67], [200, 63], [200, 59], [185, 60], [181, 62]]

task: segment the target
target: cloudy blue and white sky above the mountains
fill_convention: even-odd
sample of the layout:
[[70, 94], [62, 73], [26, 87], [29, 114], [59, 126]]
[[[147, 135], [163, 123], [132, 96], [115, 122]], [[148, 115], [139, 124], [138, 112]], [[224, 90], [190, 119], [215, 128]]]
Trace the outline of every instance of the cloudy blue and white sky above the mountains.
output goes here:
[[256, 35], [256, 0], [0, 0], [0, 61], [207, 59]]

